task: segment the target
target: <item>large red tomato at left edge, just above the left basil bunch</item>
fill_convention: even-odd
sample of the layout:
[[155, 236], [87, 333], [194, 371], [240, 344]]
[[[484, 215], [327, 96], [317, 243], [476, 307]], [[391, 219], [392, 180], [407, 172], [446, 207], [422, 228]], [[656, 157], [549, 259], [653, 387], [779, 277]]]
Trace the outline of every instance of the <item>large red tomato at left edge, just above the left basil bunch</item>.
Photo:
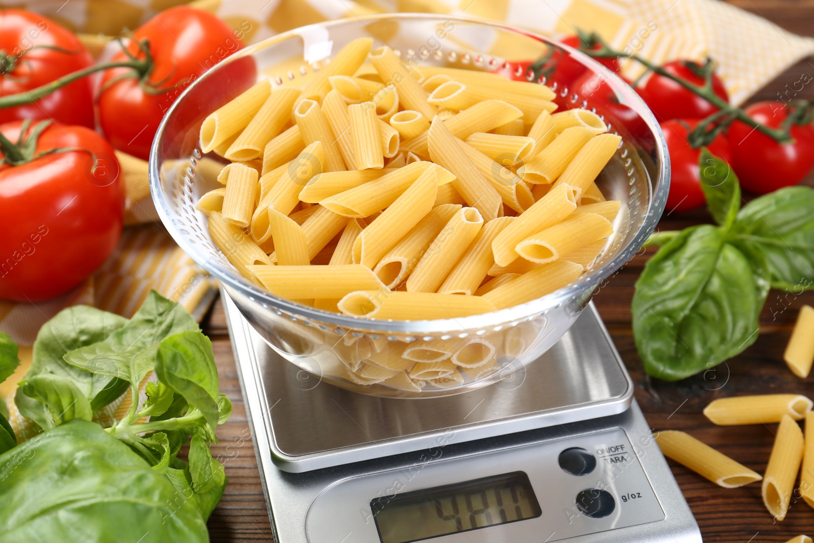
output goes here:
[[[0, 133], [17, 142], [21, 125], [12, 121]], [[79, 150], [37, 158], [65, 147]], [[13, 155], [3, 151], [0, 298], [34, 302], [59, 296], [90, 276], [119, 241], [125, 195], [113, 147], [91, 129], [54, 123], [40, 134], [25, 164], [8, 164]]]

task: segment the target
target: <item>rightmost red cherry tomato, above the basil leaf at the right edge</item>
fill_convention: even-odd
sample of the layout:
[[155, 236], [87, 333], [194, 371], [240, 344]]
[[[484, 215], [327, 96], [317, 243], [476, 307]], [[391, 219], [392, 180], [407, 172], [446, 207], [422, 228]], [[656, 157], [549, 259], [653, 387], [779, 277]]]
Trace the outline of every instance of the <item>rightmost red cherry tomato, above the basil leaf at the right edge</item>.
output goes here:
[[[759, 102], [746, 114], [762, 125], [777, 128], [789, 116], [780, 102]], [[814, 129], [791, 127], [793, 143], [778, 143], [739, 120], [729, 126], [733, 168], [744, 189], [764, 195], [783, 186], [796, 185], [814, 167]]]

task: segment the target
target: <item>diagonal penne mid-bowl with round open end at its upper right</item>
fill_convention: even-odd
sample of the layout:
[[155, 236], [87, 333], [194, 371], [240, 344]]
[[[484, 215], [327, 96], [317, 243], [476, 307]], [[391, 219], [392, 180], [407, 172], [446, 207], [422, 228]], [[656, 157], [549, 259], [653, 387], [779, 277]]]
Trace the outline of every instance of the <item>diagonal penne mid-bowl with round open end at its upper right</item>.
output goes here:
[[407, 291], [437, 291], [482, 226], [484, 218], [477, 209], [461, 208], [456, 212], [407, 278]]

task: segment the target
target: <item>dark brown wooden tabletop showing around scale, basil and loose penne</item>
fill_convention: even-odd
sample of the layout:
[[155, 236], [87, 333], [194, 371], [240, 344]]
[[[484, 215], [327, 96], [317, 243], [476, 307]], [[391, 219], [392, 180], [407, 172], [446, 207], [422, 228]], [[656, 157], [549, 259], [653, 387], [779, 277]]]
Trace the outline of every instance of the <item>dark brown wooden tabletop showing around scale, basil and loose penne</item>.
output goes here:
[[[734, 0], [732, 3], [766, 17], [782, 28], [814, 36], [812, 0]], [[753, 100], [776, 99], [777, 92], [783, 90], [786, 83], [798, 81], [803, 73], [814, 75], [814, 60], [804, 59], [795, 64], [760, 90]], [[803, 93], [804, 98], [814, 99], [814, 87], [803, 90]], [[809, 176], [807, 184], [814, 186], [814, 175]], [[709, 221], [710, 217], [703, 211], [684, 215], [672, 213], [663, 217], [659, 229], [676, 230]], [[702, 409], [714, 398], [723, 396], [771, 392], [814, 394], [814, 376], [798, 379], [782, 361], [797, 311], [803, 304], [814, 304], [814, 292], [794, 296], [772, 291], [755, 344], [715, 370], [678, 383], [650, 381], [642, 370], [633, 344], [630, 300], [633, 284], [652, 254], [650, 251], [633, 258], [594, 297], [636, 383], [636, 398], [641, 409], [655, 430], [688, 431], [738, 462], [763, 473], [777, 425], [716, 427], [702, 415]], [[225, 463], [229, 478], [221, 504], [209, 519], [212, 541], [274, 541], [220, 300], [206, 317], [204, 331], [212, 338], [215, 348], [221, 392], [234, 404], [229, 422], [218, 429], [220, 443], [212, 447], [212, 453]], [[704, 541], [761, 543], [787, 541], [799, 534], [814, 536], [814, 510], [801, 499], [793, 498], [786, 520], [776, 523], [763, 506], [759, 484], [745, 488], [719, 488], [675, 462], [670, 461], [670, 465], [698, 520]]]

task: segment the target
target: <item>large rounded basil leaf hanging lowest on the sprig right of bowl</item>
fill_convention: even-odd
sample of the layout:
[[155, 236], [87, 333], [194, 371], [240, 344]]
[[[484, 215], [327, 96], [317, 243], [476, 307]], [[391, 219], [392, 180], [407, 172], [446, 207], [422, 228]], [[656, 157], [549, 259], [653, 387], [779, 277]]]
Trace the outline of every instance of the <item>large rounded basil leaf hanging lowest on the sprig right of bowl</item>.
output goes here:
[[633, 333], [647, 373], [684, 379], [741, 353], [757, 338], [765, 291], [719, 228], [684, 230], [636, 282]]

